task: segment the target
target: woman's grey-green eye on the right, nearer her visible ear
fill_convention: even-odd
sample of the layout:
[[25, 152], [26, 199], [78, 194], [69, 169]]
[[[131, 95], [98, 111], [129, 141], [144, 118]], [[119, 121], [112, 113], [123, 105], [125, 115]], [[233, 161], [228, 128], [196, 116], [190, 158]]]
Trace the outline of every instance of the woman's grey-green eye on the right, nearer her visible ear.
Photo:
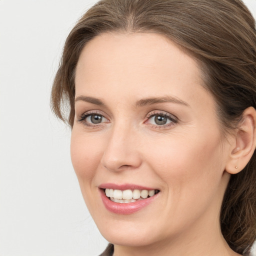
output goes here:
[[145, 123], [153, 124], [159, 127], [166, 127], [174, 123], [177, 123], [177, 118], [169, 113], [151, 112], [147, 115], [147, 121]]

